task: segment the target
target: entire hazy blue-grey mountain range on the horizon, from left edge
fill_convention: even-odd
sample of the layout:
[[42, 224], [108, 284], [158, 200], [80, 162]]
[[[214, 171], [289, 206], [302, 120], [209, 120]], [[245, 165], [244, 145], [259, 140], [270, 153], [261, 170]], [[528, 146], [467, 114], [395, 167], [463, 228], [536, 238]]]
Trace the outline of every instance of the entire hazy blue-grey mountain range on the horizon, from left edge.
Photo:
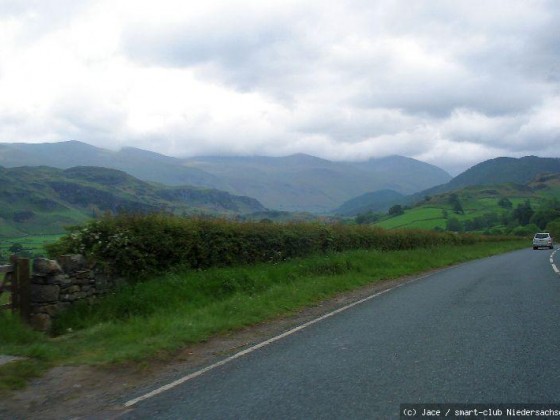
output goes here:
[[253, 197], [270, 209], [315, 213], [329, 213], [371, 191], [410, 194], [451, 179], [436, 166], [402, 156], [365, 162], [333, 162], [304, 154], [179, 159], [136, 148], [114, 152], [79, 141], [0, 143], [0, 165], [106, 167], [144, 181]]

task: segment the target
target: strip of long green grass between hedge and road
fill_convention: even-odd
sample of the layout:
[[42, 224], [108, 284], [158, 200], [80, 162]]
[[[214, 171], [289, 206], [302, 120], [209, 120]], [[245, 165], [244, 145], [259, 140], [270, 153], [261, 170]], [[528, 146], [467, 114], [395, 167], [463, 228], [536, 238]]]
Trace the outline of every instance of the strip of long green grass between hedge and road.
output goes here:
[[519, 249], [525, 242], [348, 251], [278, 264], [178, 271], [127, 286], [95, 306], [76, 305], [58, 319], [55, 337], [0, 314], [0, 354], [29, 358], [0, 366], [0, 389], [23, 386], [54, 365], [140, 362], [172, 354], [367, 284]]

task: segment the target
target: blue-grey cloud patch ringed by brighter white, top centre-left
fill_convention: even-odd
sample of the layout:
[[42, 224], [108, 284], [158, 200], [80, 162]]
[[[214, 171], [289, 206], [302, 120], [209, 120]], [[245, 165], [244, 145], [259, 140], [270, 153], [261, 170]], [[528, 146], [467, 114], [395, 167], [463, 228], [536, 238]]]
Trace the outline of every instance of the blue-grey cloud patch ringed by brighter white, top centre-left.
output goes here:
[[132, 25], [124, 32], [123, 51], [146, 65], [196, 68], [200, 78], [239, 90], [274, 89], [314, 55], [289, 22], [274, 16], [207, 18], [166, 28]]

